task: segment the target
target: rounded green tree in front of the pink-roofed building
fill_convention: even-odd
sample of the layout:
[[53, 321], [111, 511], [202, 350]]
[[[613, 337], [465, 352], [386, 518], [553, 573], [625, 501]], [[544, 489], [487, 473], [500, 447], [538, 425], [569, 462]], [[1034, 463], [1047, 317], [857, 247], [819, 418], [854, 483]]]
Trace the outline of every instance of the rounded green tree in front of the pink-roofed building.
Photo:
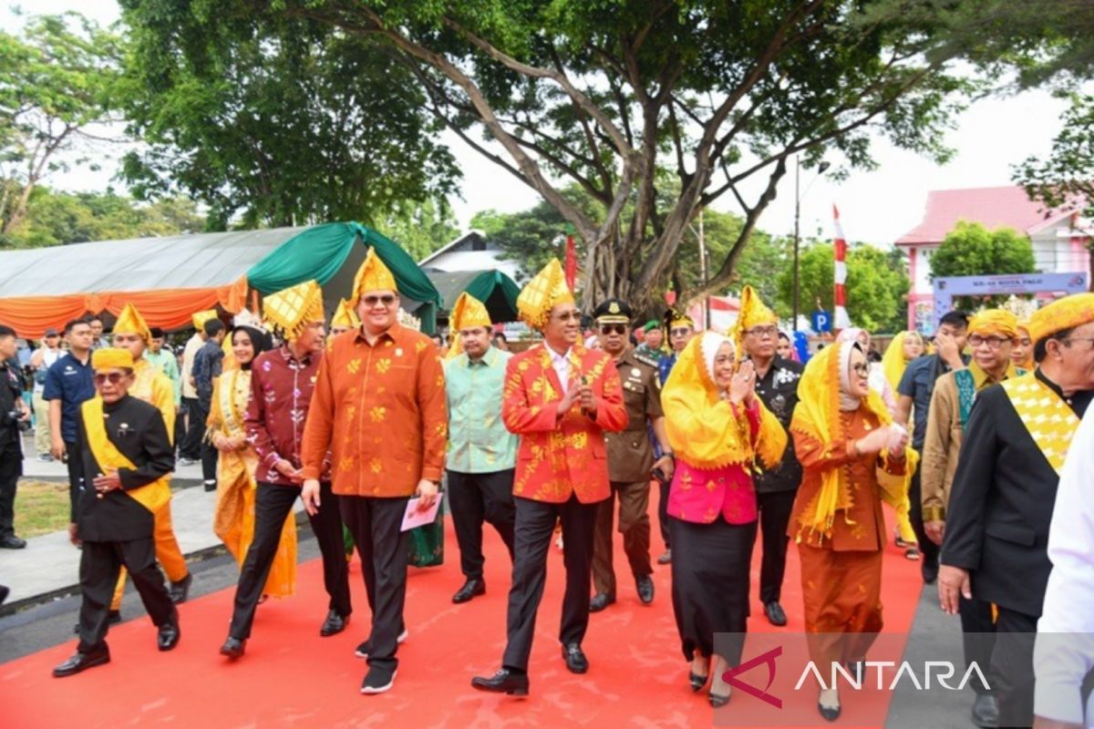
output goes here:
[[[1009, 227], [989, 231], [980, 223], [962, 221], [946, 234], [931, 255], [931, 279], [953, 275], [997, 275], [1034, 273], [1036, 262], [1029, 238]], [[958, 296], [956, 306], [971, 311], [980, 306], [996, 306], [1005, 296]]]

